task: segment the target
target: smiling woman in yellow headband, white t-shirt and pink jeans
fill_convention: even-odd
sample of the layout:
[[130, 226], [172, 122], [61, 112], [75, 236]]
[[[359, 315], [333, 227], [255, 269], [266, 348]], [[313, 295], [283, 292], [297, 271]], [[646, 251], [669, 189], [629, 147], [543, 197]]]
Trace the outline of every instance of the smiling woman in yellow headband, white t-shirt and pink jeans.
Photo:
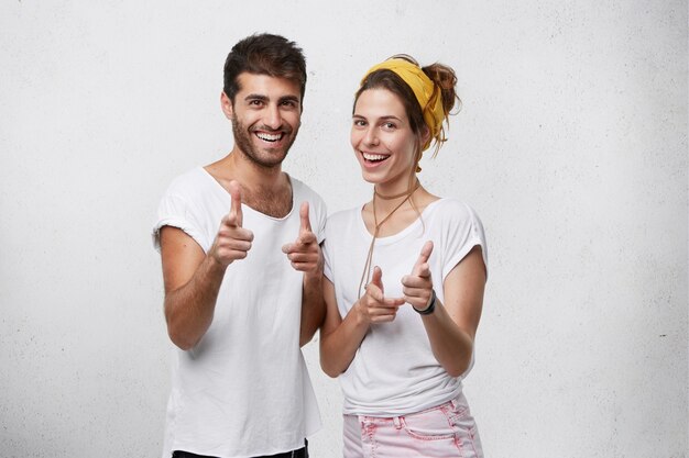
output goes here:
[[344, 457], [481, 457], [461, 380], [486, 279], [481, 222], [420, 186], [445, 142], [451, 68], [394, 56], [357, 91], [351, 144], [373, 198], [333, 214], [325, 244], [321, 367], [344, 394]]

